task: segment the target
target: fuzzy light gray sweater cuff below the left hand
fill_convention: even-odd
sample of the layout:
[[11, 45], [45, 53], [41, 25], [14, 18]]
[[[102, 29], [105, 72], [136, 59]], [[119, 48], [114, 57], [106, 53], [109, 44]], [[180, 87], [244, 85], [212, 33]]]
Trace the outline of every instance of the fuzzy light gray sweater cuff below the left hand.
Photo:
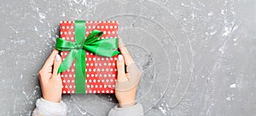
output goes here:
[[67, 106], [64, 102], [49, 102], [40, 98], [36, 102], [32, 116], [67, 116]]

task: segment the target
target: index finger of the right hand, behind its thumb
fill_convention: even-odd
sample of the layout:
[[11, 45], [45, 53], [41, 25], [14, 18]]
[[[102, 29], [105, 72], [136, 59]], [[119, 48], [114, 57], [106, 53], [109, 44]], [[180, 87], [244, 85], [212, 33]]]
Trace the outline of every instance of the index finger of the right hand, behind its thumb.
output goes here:
[[125, 58], [125, 64], [129, 66], [130, 64], [134, 63], [133, 59], [131, 58], [130, 53], [125, 47], [125, 44], [122, 43], [122, 41], [119, 41], [119, 50], [122, 53], [122, 55]]

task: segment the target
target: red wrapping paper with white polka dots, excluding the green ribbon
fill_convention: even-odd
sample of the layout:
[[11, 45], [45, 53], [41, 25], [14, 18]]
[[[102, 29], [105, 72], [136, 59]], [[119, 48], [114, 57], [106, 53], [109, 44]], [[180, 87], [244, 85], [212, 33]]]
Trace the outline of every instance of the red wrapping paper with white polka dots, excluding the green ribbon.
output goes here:
[[[60, 37], [67, 41], [75, 41], [74, 21], [61, 21]], [[102, 30], [101, 39], [111, 39], [118, 36], [117, 21], [86, 21], [85, 34], [89, 36], [91, 30]], [[114, 93], [117, 69], [117, 56], [105, 58], [96, 56], [91, 52], [85, 51], [85, 71], [86, 80], [84, 85], [86, 93]], [[68, 52], [61, 52], [62, 60], [67, 57]], [[61, 73], [62, 93], [75, 93], [75, 61], [67, 71]]]

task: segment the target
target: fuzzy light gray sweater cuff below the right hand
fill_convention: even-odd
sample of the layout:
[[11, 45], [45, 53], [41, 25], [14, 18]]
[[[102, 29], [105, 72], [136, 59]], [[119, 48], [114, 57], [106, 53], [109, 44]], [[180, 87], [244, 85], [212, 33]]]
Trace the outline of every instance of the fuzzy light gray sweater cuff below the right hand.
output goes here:
[[119, 108], [117, 105], [111, 108], [108, 116], [143, 116], [143, 105], [137, 103], [128, 108]]

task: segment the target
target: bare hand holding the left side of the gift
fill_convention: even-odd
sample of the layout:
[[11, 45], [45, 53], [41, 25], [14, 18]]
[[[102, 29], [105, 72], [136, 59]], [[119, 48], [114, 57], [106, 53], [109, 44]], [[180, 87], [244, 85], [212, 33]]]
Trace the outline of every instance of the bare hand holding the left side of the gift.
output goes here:
[[61, 74], [57, 74], [61, 56], [54, 50], [38, 72], [43, 98], [50, 102], [61, 102]]

